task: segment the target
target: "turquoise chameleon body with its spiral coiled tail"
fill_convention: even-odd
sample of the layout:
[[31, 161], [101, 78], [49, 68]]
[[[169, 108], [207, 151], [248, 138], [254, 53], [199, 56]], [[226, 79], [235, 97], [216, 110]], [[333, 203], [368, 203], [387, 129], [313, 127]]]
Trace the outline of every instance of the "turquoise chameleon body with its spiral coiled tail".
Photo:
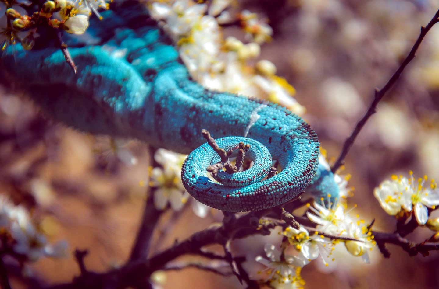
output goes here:
[[[65, 35], [77, 74], [59, 49], [41, 43], [44, 39], [40, 49], [18, 49], [15, 61], [7, 56], [2, 69], [48, 114], [72, 127], [180, 153], [195, 149], [184, 162], [182, 181], [193, 197], [213, 208], [270, 208], [309, 185], [319, 142], [307, 123], [282, 106], [198, 85], [144, 7], [135, 1], [117, 5], [103, 13], [103, 21], [91, 21], [85, 35]], [[206, 167], [219, 157], [205, 144], [202, 129], [226, 150], [240, 141], [251, 144], [248, 157], [255, 165], [234, 174], [219, 172], [223, 183], [209, 179]], [[263, 180], [272, 159], [282, 170]], [[338, 196], [333, 178], [326, 178], [324, 187], [320, 193]]]

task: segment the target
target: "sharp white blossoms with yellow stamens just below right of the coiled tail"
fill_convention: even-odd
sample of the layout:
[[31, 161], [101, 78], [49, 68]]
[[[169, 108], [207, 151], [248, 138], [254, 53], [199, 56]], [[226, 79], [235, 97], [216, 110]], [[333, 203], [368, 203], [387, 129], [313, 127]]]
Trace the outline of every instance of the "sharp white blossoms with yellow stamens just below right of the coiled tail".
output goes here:
[[[338, 202], [331, 204], [330, 197], [327, 198], [327, 204], [325, 200], [321, 200], [324, 205], [317, 202], [313, 206], [308, 204], [309, 211], [306, 215], [317, 224], [313, 234], [309, 234], [303, 226], [300, 229], [288, 226], [281, 233], [288, 238], [288, 244], [282, 245], [282, 251], [272, 244], [266, 244], [264, 249], [268, 260], [262, 256], [256, 257], [256, 261], [274, 270], [268, 275], [273, 288], [301, 288], [305, 282], [300, 278], [300, 268], [319, 256], [328, 266], [327, 260], [335, 261], [331, 255], [335, 246], [341, 243], [345, 244], [351, 255], [361, 256], [369, 263], [368, 251], [376, 245], [371, 229], [363, 220], [357, 220], [358, 215], [355, 218], [350, 217], [345, 206]], [[324, 235], [331, 236], [331, 239]], [[295, 274], [292, 274], [293, 271]], [[290, 285], [285, 287], [285, 283]]]

